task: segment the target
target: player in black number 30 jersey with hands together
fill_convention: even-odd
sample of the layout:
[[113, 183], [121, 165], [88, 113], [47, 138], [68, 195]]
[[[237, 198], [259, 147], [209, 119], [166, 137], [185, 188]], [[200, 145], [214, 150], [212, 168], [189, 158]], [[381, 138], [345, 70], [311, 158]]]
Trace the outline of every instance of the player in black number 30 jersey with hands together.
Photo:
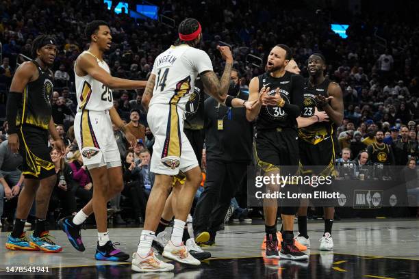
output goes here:
[[[268, 72], [255, 77], [249, 85], [249, 101], [258, 100], [246, 111], [249, 121], [256, 120], [255, 157], [265, 176], [271, 174], [296, 175], [299, 169], [299, 145], [296, 118], [303, 107], [304, 79], [285, 70], [292, 59], [292, 51], [285, 44], [275, 46], [268, 56]], [[284, 168], [284, 166], [290, 166]], [[278, 191], [279, 185], [267, 185]], [[293, 185], [295, 186], [295, 185]], [[277, 239], [276, 199], [264, 199], [266, 256], [279, 258]], [[294, 245], [295, 207], [283, 207], [283, 243], [281, 258], [307, 260], [308, 256]]]

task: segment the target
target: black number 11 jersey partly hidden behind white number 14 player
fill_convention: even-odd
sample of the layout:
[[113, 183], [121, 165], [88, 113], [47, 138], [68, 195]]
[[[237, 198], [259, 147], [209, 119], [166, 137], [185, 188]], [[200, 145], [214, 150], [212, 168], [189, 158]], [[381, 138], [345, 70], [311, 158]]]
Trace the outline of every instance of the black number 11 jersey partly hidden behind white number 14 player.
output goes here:
[[201, 130], [204, 125], [204, 101], [205, 92], [201, 79], [196, 79], [194, 92], [190, 94], [189, 101], [186, 103], [186, 119], [183, 123], [184, 129]]

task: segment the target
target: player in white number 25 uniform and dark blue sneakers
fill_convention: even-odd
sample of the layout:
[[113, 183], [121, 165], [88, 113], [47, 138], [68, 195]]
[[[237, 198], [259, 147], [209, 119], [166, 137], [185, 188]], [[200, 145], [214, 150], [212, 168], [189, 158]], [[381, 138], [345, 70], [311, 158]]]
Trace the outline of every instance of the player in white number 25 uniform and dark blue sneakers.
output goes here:
[[112, 89], [144, 88], [146, 81], [118, 79], [110, 75], [103, 53], [110, 49], [112, 36], [105, 21], [92, 21], [85, 30], [90, 47], [75, 62], [77, 114], [74, 131], [83, 163], [92, 176], [93, 197], [75, 217], [60, 220], [62, 230], [71, 244], [84, 251], [80, 225], [94, 212], [98, 243], [95, 258], [101, 261], [125, 261], [128, 254], [116, 249], [107, 234], [106, 203], [123, 189], [120, 154], [112, 131], [112, 124], [125, 133], [134, 146], [136, 138], [125, 131], [123, 121], [113, 106]]

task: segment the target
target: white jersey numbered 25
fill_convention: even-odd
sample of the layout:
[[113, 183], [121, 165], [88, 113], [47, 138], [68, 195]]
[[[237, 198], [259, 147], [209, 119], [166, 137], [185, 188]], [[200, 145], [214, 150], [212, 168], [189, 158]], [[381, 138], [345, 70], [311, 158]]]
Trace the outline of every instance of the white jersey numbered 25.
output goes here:
[[[92, 55], [92, 53], [88, 51], [84, 51], [84, 53]], [[92, 56], [96, 58], [97, 64], [99, 64], [103, 70], [110, 73], [110, 68], [107, 66], [105, 61], [97, 59], [94, 55]], [[114, 102], [112, 98], [112, 90], [110, 90], [110, 88], [107, 88], [106, 85], [97, 81], [90, 75], [79, 77], [75, 72], [75, 67], [74, 73], [77, 94], [77, 111], [105, 111], [112, 108]]]

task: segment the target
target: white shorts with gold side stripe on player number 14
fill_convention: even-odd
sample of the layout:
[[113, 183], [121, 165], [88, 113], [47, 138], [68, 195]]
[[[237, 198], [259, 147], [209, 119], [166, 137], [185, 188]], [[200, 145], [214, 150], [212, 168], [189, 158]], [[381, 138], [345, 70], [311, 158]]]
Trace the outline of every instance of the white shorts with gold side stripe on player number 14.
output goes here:
[[147, 122], [155, 137], [151, 172], [175, 176], [198, 166], [194, 150], [183, 132], [183, 111], [176, 105], [154, 104]]

